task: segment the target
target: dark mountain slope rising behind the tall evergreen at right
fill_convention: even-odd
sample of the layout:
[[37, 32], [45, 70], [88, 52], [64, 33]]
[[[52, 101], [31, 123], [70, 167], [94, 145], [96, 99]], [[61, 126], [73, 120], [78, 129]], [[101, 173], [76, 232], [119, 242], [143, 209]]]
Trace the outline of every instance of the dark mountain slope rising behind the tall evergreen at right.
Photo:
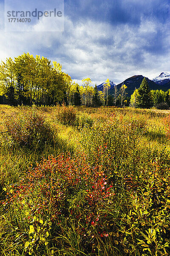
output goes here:
[[[148, 79], [147, 77], [145, 77], [145, 78], [148, 82], [150, 90], [167, 91], [168, 86], [165, 86], [162, 84], [156, 84], [156, 82]], [[139, 76], [131, 76], [130, 78], [127, 78], [125, 81], [123, 81], [123, 84], [125, 84], [127, 86], [127, 89], [126, 89], [127, 96], [130, 96], [134, 92], [135, 88], [138, 89], [140, 87], [143, 79], [144, 79], [144, 76], [139, 75]], [[121, 87], [121, 85], [122, 85], [122, 83], [117, 85], [118, 89], [119, 89], [119, 87]]]

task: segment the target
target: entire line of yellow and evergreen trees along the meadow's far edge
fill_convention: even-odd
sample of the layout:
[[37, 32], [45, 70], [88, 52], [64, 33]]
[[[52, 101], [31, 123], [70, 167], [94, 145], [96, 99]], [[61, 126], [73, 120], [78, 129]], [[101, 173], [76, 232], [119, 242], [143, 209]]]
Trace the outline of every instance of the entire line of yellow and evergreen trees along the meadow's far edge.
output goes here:
[[170, 108], [170, 90], [151, 90], [146, 79], [131, 97], [125, 84], [114, 87], [110, 93], [107, 79], [102, 91], [91, 86], [91, 79], [82, 79], [79, 85], [62, 71], [57, 61], [29, 53], [7, 58], [0, 64], [0, 104], [51, 106], [56, 104], [85, 106], [131, 106], [134, 108]]

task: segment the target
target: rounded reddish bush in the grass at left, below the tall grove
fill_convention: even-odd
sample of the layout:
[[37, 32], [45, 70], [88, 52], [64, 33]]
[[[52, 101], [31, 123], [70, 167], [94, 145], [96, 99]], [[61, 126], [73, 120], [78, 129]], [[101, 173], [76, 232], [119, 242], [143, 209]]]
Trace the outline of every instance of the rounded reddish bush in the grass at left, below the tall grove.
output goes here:
[[33, 109], [25, 110], [18, 116], [10, 116], [5, 122], [5, 128], [6, 142], [13, 146], [42, 147], [45, 142], [51, 143], [54, 137], [54, 130], [45, 122], [44, 117]]

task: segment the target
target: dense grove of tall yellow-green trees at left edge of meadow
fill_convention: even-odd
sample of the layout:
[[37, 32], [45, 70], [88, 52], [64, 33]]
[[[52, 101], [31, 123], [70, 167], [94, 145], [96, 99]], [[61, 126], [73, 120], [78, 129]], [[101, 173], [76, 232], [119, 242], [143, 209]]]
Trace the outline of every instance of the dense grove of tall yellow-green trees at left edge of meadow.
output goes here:
[[[69, 80], [69, 81], [68, 81]], [[47, 58], [23, 53], [0, 65], [0, 90], [10, 105], [54, 105], [66, 97], [71, 78]]]

